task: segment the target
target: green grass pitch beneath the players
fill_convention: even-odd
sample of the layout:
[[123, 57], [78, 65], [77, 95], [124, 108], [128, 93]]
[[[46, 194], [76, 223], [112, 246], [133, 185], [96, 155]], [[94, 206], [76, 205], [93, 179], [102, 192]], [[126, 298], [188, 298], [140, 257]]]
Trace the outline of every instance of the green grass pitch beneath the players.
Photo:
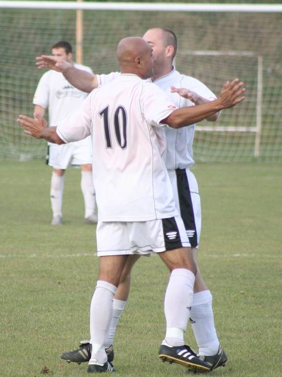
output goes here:
[[[202, 197], [199, 264], [213, 295], [226, 377], [281, 376], [282, 165], [198, 164]], [[64, 225], [51, 227], [50, 169], [0, 162], [0, 376], [87, 376], [63, 351], [89, 336], [98, 259], [95, 226], [83, 223], [80, 173], [67, 171]], [[133, 271], [115, 339], [116, 376], [186, 376], [157, 355], [168, 272], [157, 256]], [[195, 348], [190, 328], [186, 341]]]

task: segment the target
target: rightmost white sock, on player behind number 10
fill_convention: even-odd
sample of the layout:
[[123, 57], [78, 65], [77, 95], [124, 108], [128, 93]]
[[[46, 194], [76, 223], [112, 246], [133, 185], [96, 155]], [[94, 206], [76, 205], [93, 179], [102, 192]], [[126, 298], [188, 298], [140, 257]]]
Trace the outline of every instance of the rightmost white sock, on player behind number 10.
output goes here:
[[194, 294], [189, 317], [199, 348], [199, 355], [214, 355], [217, 353], [219, 347], [211, 304], [212, 296], [210, 291], [202, 291]]

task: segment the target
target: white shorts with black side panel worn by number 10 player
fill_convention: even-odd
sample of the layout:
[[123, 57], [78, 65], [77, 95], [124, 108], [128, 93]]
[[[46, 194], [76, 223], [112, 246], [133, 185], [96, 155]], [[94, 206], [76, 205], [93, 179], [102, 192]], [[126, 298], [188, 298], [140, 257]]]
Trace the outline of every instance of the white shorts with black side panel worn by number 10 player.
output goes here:
[[180, 216], [150, 221], [98, 221], [97, 255], [149, 255], [190, 247]]

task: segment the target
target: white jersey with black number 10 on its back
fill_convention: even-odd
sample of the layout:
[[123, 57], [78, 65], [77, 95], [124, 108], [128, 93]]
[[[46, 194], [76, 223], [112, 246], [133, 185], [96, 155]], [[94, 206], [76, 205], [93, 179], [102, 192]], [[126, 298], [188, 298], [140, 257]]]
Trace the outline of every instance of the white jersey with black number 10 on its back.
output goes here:
[[155, 84], [120, 74], [94, 89], [77, 111], [59, 122], [57, 134], [65, 142], [93, 136], [101, 221], [148, 221], [178, 214], [159, 131], [161, 120], [174, 108]]

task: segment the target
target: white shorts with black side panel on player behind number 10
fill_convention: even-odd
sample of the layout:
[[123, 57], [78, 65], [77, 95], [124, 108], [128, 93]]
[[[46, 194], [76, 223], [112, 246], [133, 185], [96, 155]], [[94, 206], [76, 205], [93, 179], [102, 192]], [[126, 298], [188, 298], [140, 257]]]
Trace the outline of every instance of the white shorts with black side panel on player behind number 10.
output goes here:
[[184, 222], [191, 247], [199, 247], [201, 200], [197, 180], [189, 169], [168, 170], [176, 208]]

